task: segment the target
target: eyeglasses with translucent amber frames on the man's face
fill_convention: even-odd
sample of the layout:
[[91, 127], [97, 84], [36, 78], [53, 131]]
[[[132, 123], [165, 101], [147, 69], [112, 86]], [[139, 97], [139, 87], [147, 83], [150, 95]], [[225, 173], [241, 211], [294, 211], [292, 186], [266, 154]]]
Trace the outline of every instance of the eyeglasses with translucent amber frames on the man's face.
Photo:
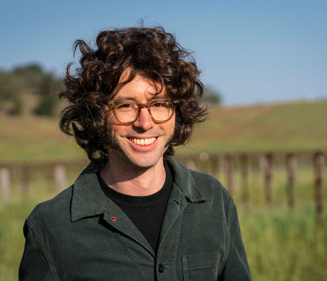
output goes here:
[[140, 116], [141, 108], [147, 108], [151, 119], [157, 123], [167, 122], [173, 116], [179, 99], [156, 99], [149, 103], [137, 103], [130, 100], [110, 101], [113, 115], [122, 124], [132, 124]]

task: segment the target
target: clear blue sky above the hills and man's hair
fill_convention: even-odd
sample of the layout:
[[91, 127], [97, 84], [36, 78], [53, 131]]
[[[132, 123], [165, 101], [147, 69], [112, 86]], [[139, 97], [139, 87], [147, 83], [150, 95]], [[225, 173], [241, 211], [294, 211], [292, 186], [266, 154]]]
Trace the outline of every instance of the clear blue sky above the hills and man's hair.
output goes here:
[[40, 63], [56, 75], [72, 43], [139, 19], [193, 49], [225, 105], [327, 98], [327, 1], [5, 1], [0, 68]]

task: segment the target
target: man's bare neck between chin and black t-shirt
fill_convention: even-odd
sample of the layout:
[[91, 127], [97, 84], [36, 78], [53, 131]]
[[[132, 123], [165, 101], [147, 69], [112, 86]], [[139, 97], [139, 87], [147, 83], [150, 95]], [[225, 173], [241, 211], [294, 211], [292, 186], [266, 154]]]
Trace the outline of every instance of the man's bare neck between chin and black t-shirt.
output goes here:
[[152, 167], [126, 167], [117, 162], [111, 163], [109, 158], [100, 176], [107, 185], [120, 193], [147, 196], [163, 187], [166, 172], [163, 158]]

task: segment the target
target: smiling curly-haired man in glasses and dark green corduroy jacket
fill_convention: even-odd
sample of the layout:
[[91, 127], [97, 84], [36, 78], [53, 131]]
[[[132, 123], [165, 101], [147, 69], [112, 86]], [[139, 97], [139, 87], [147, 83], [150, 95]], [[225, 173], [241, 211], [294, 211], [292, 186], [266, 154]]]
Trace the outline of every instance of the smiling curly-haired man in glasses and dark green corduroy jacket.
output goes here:
[[77, 48], [60, 129], [91, 163], [26, 219], [20, 280], [251, 280], [231, 196], [171, 158], [206, 115], [191, 54], [161, 27]]

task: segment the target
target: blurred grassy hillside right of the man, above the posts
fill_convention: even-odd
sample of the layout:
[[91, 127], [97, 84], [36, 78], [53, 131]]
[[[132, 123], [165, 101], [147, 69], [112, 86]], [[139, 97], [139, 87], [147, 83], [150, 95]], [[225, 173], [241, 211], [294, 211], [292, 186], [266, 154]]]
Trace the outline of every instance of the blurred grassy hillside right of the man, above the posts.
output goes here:
[[212, 107], [189, 147], [212, 153], [322, 149], [327, 147], [326, 128], [326, 100]]

